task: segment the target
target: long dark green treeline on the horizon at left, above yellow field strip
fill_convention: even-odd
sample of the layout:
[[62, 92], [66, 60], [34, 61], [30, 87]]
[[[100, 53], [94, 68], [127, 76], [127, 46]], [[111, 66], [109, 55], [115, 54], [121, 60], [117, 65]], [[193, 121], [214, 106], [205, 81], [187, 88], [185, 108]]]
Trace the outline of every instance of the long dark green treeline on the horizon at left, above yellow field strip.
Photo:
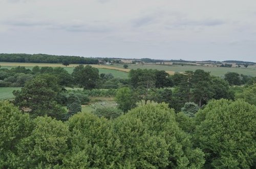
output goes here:
[[18, 62], [18, 63], [64, 63], [69, 64], [98, 64], [99, 61], [94, 58], [83, 58], [65, 55], [50, 54], [23, 54], [23, 53], [0, 53], [0, 62]]

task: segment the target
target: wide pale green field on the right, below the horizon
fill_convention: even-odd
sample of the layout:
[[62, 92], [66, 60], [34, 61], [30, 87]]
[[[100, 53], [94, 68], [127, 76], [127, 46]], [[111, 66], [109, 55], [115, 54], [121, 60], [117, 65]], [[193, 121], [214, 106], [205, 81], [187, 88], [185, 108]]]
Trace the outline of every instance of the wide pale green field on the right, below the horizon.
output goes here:
[[[202, 69], [207, 72], [211, 72], [211, 75], [224, 76], [227, 72], [237, 72], [239, 74], [245, 74], [250, 76], [256, 76], [256, 67], [249, 66], [248, 68], [224, 68], [224, 67], [212, 67], [212, 66], [168, 66], [168, 65], [141, 65], [141, 64], [129, 64], [129, 69], [157, 69], [174, 72], [185, 72], [186, 70], [195, 71]], [[113, 65], [113, 67], [122, 68], [123, 65]]]

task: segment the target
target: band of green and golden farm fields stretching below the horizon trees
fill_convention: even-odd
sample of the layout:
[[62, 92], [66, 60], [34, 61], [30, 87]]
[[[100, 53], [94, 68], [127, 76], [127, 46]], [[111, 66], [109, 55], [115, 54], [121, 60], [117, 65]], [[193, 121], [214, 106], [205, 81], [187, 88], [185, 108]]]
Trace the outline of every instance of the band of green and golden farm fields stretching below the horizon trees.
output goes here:
[[[61, 64], [45, 64], [45, 63], [7, 63], [7, 62], [0, 62], [2, 68], [11, 68], [15, 66], [25, 66], [26, 68], [32, 69], [34, 66], [44, 67], [63, 67], [69, 73], [73, 72], [74, 67], [78, 66], [77, 64], [71, 64], [69, 66], [63, 66]], [[172, 65], [149, 65], [149, 64], [129, 64], [129, 69], [124, 69], [123, 64], [117, 65], [91, 65], [95, 68], [99, 69], [99, 73], [112, 73], [114, 77], [120, 78], [127, 78], [127, 73], [131, 69], [157, 69], [157, 70], [164, 70], [169, 74], [174, 74], [175, 72], [185, 72], [186, 70], [195, 71], [197, 69], [203, 69], [204, 71], [211, 72], [211, 75], [216, 76], [224, 76], [227, 72], [237, 72], [239, 74], [245, 74], [250, 76], [256, 76], [256, 67], [255, 66], [248, 66], [248, 68], [225, 68], [225, 67], [217, 67], [217, 66], [172, 66]]]

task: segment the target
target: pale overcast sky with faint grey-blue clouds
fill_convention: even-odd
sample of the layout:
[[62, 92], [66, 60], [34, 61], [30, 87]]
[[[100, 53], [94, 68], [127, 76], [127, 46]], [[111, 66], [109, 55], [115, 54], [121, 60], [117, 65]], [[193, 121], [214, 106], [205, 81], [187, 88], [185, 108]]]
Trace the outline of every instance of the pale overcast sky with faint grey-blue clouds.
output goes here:
[[0, 0], [0, 53], [256, 62], [256, 1]]

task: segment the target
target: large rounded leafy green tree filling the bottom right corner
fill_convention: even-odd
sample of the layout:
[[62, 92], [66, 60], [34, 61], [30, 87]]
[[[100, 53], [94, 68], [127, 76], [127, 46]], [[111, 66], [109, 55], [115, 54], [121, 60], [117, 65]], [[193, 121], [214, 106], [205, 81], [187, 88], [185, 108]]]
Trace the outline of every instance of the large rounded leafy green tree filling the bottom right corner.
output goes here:
[[210, 101], [196, 114], [195, 140], [207, 154], [206, 168], [256, 166], [256, 108], [238, 100]]

